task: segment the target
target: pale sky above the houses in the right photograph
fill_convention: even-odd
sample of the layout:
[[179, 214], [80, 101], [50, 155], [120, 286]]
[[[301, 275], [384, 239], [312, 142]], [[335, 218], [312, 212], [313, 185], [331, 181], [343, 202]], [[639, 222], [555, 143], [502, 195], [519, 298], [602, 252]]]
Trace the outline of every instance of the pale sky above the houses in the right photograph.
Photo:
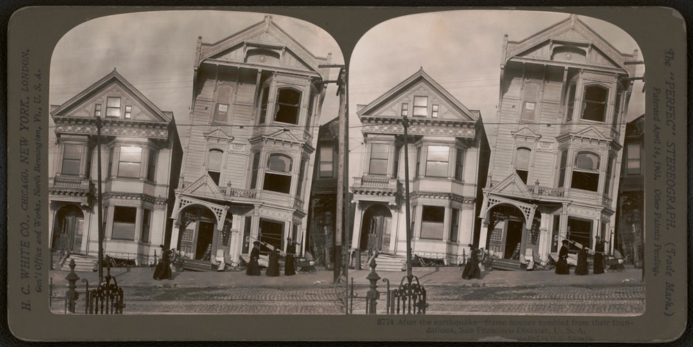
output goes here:
[[[569, 16], [507, 10], [432, 12], [398, 17], [369, 30], [356, 44], [349, 61], [350, 178], [360, 172], [365, 150], [357, 105], [371, 103], [423, 68], [462, 105], [480, 110], [491, 137], [495, 129], [489, 124], [497, 120], [503, 36], [508, 34], [509, 41], [521, 41]], [[599, 19], [578, 18], [621, 53], [640, 51], [620, 28]], [[641, 65], [636, 75], [642, 76], [643, 72]], [[643, 113], [642, 82], [636, 81], [626, 121]], [[492, 146], [493, 139], [489, 139]]]

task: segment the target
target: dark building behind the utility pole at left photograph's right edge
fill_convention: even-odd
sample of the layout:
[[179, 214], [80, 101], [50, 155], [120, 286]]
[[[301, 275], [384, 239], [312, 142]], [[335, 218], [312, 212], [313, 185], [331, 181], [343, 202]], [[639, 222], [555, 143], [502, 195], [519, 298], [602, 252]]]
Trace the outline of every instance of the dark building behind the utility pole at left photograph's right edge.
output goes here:
[[338, 135], [339, 118], [320, 126], [308, 208], [308, 238], [305, 250], [324, 262], [331, 261], [335, 243], [337, 168], [340, 159], [337, 148]]

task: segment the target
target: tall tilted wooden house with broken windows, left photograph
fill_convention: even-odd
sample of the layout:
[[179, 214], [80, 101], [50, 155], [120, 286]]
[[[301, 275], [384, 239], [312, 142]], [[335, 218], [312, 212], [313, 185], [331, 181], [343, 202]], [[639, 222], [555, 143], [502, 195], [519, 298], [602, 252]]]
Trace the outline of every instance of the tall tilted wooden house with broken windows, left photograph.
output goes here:
[[256, 239], [280, 249], [286, 238], [305, 244], [328, 78], [319, 66], [330, 60], [271, 16], [219, 42], [198, 38], [171, 247], [217, 264], [247, 255]]

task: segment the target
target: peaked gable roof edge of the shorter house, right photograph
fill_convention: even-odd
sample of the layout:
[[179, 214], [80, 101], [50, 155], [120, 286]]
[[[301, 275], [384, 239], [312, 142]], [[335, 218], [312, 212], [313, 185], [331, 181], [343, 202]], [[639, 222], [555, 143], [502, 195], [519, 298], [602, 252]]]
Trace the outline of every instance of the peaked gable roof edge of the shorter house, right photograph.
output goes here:
[[358, 114], [358, 116], [368, 115], [375, 109], [378, 109], [378, 107], [388, 103], [390, 100], [392, 100], [392, 98], [405, 93], [415, 85], [425, 83], [428, 83], [438, 96], [441, 96], [441, 98], [444, 98], [450, 105], [456, 107], [462, 115], [467, 116], [471, 121], [478, 121], [480, 116], [478, 111], [470, 110], [466, 106], [462, 105], [457, 98], [446, 91], [446, 89], [444, 89], [438, 82], [433, 80], [433, 78], [431, 78], [426, 71], [423, 71], [423, 67], [402, 82], [399, 82], [396, 86], [392, 87], [392, 89], [385, 92], [385, 94], [381, 95], [376, 100], [373, 100], [365, 107], [359, 109], [356, 114]]

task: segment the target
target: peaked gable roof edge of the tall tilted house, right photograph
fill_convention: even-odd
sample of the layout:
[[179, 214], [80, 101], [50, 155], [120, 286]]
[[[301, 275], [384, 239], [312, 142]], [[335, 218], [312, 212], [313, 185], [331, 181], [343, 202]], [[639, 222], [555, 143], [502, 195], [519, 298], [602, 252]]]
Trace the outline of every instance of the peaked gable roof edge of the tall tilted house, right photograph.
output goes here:
[[625, 62], [628, 60], [635, 60], [638, 54], [637, 50], [633, 52], [633, 54], [621, 53], [602, 36], [592, 30], [592, 28], [581, 21], [577, 15], [570, 15], [570, 17], [563, 21], [559, 21], [521, 41], [508, 41], [507, 35], [505, 35], [502, 64], [507, 64], [513, 57], [554, 39], [560, 42], [570, 42], [579, 45], [589, 44], [599, 52], [602, 52], [609, 60], [620, 67], [620, 69], [627, 71], [631, 75], [635, 73], [635, 66], [626, 65]]

